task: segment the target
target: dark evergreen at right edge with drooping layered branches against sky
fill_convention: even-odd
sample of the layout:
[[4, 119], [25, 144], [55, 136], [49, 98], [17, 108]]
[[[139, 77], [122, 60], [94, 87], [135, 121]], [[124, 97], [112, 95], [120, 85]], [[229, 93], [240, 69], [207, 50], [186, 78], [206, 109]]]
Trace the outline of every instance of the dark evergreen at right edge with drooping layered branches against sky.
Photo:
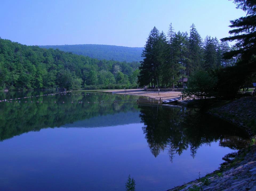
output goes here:
[[[222, 41], [236, 41], [235, 48], [224, 54], [225, 59], [237, 60], [233, 67], [228, 67], [218, 73], [219, 95], [235, 96], [239, 89], [252, 82], [256, 75], [256, 1], [234, 0], [237, 9], [246, 12], [246, 16], [231, 20], [229, 36]], [[229, 94], [227, 94], [227, 92]]]

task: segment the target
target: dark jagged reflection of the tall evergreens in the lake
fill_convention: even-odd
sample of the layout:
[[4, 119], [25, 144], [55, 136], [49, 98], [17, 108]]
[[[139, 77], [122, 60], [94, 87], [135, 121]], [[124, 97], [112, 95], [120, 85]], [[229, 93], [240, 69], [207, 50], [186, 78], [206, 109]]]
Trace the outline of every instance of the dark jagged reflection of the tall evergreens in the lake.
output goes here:
[[229, 123], [184, 107], [139, 106], [143, 132], [151, 153], [157, 157], [168, 150], [170, 161], [175, 154], [190, 148], [191, 157], [203, 144], [220, 140], [219, 145], [237, 150], [244, 144], [246, 132]]

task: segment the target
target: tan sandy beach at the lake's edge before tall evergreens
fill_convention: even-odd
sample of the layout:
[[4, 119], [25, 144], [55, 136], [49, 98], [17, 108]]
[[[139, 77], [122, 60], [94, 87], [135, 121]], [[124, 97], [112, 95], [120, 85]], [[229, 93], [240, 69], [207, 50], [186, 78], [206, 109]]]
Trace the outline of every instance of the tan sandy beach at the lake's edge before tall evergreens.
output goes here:
[[[129, 89], [126, 90], [126, 94], [127, 95], [141, 95], [141, 96], [147, 96], [150, 98], [156, 98], [159, 99], [160, 97], [179, 97], [181, 96], [181, 92], [144, 92], [144, 89]], [[116, 94], [125, 94], [124, 90], [111, 90], [111, 91], [106, 91], [106, 92], [112, 92], [112, 93], [116, 93]]]

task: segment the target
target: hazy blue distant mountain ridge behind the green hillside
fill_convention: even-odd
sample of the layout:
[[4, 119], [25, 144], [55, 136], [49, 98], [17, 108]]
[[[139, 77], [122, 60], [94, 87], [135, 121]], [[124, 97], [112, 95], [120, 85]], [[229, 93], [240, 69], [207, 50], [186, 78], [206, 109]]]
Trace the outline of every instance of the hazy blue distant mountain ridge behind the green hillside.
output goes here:
[[143, 47], [123, 47], [115, 45], [102, 44], [75, 44], [75, 45], [45, 45], [40, 48], [53, 48], [65, 52], [72, 52], [77, 55], [89, 56], [99, 60], [115, 61], [142, 61]]

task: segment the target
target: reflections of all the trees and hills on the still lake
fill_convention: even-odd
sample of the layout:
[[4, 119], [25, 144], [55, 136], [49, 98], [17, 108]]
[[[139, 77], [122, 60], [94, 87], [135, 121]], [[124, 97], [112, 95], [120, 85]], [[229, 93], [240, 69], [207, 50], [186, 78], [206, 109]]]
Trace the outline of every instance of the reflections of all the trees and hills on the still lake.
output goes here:
[[[2, 93], [0, 97], [9, 99], [46, 93], [53, 91], [8, 92]], [[196, 109], [149, 104], [145, 106], [137, 105], [136, 102], [112, 103], [113, 100], [121, 99], [129, 100], [134, 97], [73, 92], [27, 98], [21, 100], [21, 103], [2, 102], [0, 140], [47, 127], [100, 127], [142, 121], [151, 153], [157, 157], [161, 151], [168, 150], [170, 161], [173, 162], [175, 154], [181, 155], [188, 148], [194, 158], [202, 144], [210, 145], [211, 142], [220, 140], [220, 146], [239, 149], [246, 138], [245, 132], [202, 115]], [[105, 100], [104, 104], [94, 103], [102, 100]]]

